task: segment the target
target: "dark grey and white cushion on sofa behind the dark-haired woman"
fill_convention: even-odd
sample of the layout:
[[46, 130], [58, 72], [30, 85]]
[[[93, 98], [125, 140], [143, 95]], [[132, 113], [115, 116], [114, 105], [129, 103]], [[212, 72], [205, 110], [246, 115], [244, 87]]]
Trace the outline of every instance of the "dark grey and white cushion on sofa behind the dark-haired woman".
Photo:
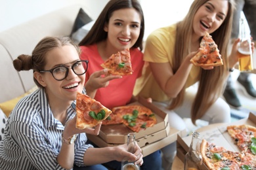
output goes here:
[[[87, 27], [91, 29], [91, 25], [93, 25], [91, 24], [92, 21], [93, 19], [91, 19], [91, 17], [83, 9], [79, 10], [70, 34], [70, 37], [72, 37], [74, 42], [78, 43], [81, 41], [81, 39], [83, 39], [83, 37], [85, 37], [85, 35], [88, 33]], [[83, 26], [85, 26], [86, 29], [81, 29]]]

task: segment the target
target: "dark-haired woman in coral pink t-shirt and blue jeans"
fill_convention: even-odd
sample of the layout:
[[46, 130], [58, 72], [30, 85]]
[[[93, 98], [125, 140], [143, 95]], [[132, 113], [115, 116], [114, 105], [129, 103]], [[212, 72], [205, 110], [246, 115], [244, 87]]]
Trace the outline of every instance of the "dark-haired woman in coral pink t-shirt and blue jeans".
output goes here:
[[[135, 80], [141, 75], [142, 39], [144, 36], [144, 16], [137, 0], [111, 0], [102, 10], [86, 37], [79, 42], [81, 59], [89, 60], [85, 89], [87, 94], [104, 106], [123, 106], [133, 98]], [[130, 49], [133, 75], [108, 75], [102, 69], [112, 54]], [[110, 81], [111, 80], [111, 81]], [[98, 86], [95, 86], [98, 84]], [[160, 150], [143, 158], [141, 169], [161, 169]], [[121, 163], [112, 161], [112, 169], [119, 169]]]

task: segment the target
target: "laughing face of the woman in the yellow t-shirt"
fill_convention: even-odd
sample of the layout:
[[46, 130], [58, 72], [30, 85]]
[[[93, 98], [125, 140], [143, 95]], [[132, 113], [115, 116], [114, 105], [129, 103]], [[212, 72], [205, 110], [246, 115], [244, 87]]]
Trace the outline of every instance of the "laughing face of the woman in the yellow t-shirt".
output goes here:
[[196, 12], [193, 20], [194, 33], [200, 37], [213, 33], [223, 24], [228, 13], [228, 1], [209, 0]]

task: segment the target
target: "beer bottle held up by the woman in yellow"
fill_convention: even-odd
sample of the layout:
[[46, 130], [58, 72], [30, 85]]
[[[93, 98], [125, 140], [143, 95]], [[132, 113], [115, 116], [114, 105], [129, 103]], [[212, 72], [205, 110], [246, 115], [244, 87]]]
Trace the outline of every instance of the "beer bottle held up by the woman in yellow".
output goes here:
[[240, 18], [239, 37], [240, 43], [238, 44], [238, 61], [240, 71], [253, 70], [253, 54], [251, 51], [251, 35], [247, 29], [244, 18]]

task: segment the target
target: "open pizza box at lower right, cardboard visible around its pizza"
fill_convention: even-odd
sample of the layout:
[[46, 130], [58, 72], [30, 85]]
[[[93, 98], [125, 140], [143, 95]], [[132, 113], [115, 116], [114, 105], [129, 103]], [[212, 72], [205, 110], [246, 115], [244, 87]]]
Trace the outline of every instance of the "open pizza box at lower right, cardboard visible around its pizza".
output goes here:
[[[215, 143], [217, 146], [223, 146], [227, 150], [240, 152], [240, 149], [236, 144], [234, 144], [232, 138], [226, 131], [226, 127], [230, 125], [242, 125], [247, 124], [251, 126], [256, 126], [256, 116], [253, 113], [249, 113], [248, 118], [244, 118], [242, 120], [238, 120], [236, 122], [232, 122], [230, 124], [216, 124], [216, 126], [208, 126], [210, 128], [200, 128], [200, 139], [205, 139], [211, 143]], [[205, 130], [204, 130], [205, 129]], [[192, 135], [187, 137], [181, 137], [178, 135], [177, 137], [177, 157], [184, 163], [184, 158], [186, 152], [188, 152], [188, 148], [190, 146], [192, 140]], [[202, 164], [200, 169], [207, 170], [208, 168]]]

